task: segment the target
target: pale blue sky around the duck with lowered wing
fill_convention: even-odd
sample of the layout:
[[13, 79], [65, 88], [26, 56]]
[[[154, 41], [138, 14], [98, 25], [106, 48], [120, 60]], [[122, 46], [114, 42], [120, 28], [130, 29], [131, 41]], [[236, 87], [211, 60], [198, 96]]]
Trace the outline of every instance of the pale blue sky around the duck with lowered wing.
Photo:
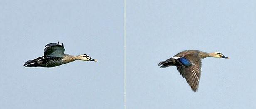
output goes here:
[[[126, 109], [255, 108], [255, 4], [126, 0]], [[202, 59], [198, 92], [176, 67], [158, 66], [191, 49], [230, 57]]]

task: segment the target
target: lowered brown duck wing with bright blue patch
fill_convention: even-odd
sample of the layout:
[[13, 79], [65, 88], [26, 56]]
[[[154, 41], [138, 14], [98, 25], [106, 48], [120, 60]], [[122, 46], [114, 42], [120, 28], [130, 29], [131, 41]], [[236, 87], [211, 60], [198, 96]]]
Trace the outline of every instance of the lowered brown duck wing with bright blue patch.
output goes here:
[[175, 59], [175, 64], [181, 76], [187, 80], [194, 92], [197, 91], [201, 75], [201, 58], [188, 54]]

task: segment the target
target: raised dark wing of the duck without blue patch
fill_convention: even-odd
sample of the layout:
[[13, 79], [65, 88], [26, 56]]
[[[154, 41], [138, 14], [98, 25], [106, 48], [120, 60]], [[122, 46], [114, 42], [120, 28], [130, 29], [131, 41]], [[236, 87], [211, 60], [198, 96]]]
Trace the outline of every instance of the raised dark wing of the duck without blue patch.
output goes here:
[[64, 57], [65, 48], [58, 43], [49, 43], [44, 48], [44, 58]]

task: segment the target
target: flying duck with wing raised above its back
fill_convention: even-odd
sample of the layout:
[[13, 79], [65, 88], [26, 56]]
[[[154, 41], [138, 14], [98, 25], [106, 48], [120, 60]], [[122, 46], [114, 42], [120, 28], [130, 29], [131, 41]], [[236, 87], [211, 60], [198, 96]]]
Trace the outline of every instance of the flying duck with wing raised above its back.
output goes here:
[[78, 56], [72, 56], [64, 54], [65, 48], [58, 43], [49, 43], [45, 45], [44, 56], [38, 57], [33, 60], [28, 60], [23, 66], [25, 67], [55, 67], [75, 60], [84, 60], [84, 61], [97, 61], [92, 59], [89, 55], [82, 54]]

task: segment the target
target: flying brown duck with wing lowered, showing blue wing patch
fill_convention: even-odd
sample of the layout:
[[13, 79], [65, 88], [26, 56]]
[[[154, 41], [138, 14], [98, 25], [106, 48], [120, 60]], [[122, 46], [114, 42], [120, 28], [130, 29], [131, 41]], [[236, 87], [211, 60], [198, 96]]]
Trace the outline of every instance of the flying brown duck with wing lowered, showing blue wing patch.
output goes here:
[[225, 57], [220, 52], [207, 53], [199, 50], [185, 50], [166, 61], [159, 62], [158, 66], [160, 68], [176, 66], [180, 75], [187, 80], [193, 92], [197, 92], [201, 75], [201, 60], [206, 57], [229, 59], [229, 57]]

